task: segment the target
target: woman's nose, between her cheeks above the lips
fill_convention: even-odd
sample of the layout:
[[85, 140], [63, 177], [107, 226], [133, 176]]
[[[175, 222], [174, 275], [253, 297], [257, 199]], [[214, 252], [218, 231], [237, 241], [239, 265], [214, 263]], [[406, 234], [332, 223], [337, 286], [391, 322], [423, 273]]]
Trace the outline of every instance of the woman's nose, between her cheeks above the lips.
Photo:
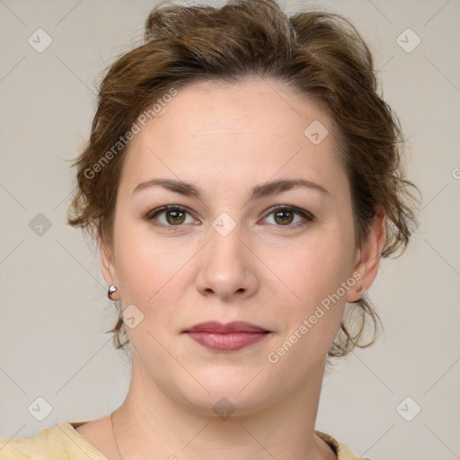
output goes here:
[[243, 300], [259, 288], [257, 263], [242, 241], [239, 226], [230, 234], [219, 234], [209, 228], [209, 241], [200, 251], [197, 289], [203, 296], [220, 300]]

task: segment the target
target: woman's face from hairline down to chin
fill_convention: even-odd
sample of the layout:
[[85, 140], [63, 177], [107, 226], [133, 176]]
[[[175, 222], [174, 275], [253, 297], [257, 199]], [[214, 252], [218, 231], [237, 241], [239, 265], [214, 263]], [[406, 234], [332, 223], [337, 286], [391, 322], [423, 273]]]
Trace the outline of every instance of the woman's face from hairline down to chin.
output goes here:
[[[369, 286], [330, 120], [272, 81], [191, 84], [126, 155], [102, 262], [144, 385], [209, 413], [307, 391]], [[208, 322], [264, 333], [190, 333]]]

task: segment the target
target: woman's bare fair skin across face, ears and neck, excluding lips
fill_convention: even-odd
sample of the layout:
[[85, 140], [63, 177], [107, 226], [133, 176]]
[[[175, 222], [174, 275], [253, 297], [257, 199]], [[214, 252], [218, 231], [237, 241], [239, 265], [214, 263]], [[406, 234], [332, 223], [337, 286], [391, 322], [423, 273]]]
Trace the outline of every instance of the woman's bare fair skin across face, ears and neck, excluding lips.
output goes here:
[[[314, 120], [330, 133], [317, 146], [304, 135]], [[182, 88], [131, 141], [113, 243], [100, 240], [104, 279], [119, 288], [123, 308], [144, 314], [127, 328], [132, 378], [114, 414], [124, 460], [336, 458], [314, 435], [325, 358], [345, 303], [376, 277], [385, 229], [379, 214], [367, 242], [354, 246], [349, 181], [332, 133], [312, 102], [254, 78]], [[202, 196], [158, 185], [133, 193], [158, 178], [191, 183]], [[280, 179], [314, 181], [328, 193], [296, 187], [251, 199], [253, 187]], [[147, 218], [164, 205], [190, 215], [175, 226], [165, 213]], [[305, 209], [314, 220], [288, 213], [288, 225], [279, 223], [267, 212], [275, 205]], [[223, 212], [236, 224], [226, 236], [212, 226]], [[353, 273], [362, 278], [271, 363], [270, 351]], [[219, 352], [183, 333], [205, 321], [246, 321], [270, 334]], [[213, 411], [223, 397], [235, 408], [227, 420]], [[120, 458], [109, 417], [77, 430]]]

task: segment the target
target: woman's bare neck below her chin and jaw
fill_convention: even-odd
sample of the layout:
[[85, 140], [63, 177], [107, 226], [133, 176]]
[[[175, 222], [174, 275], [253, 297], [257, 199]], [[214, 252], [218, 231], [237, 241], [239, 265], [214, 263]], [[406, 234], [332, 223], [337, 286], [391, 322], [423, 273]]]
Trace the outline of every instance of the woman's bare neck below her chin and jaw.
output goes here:
[[166, 394], [133, 359], [128, 395], [113, 417], [122, 459], [334, 458], [314, 435], [323, 366], [278, 402], [219, 418]]

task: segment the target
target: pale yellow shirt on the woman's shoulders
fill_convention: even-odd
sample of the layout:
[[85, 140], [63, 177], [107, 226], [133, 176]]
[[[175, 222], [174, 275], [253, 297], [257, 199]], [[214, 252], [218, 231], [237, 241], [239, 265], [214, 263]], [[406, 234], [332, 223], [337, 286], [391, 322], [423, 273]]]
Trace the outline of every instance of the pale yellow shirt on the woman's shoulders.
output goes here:
[[[109, 460], [75, 428], [86, 421], [62, 421], [55, 428], [41, 429], [31, 439], [0, 439], [0, 460]], [[349, 448], [329, 435], [316, 431], [339, 460], [358, 460]]]

